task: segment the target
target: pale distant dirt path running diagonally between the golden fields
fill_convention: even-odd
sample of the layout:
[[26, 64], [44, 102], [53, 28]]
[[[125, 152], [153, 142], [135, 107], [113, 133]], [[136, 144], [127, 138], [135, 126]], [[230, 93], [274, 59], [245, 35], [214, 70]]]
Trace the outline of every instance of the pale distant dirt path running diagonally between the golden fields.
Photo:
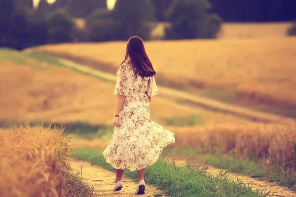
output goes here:
[[[30, 52], [30, 51], [27, 51], [27, 52]], [[112, 82], [116, 81], [116, 75], [114, 75], [114, 74], [102, 72], [102, 71], [99, 71], [99, 70], [96, 70], [96, 69], [93, 69], [93, 68], [90, 68], [88, 66], [84, 66], [81, 64], [76, 64], [73, 61], [69, 61], [66, 59], [59, 58], [58, 60], [62, 64], [64, 64], [65, 66], [67, 66], [71, 69], [74, 69], [74, 70], [77, 70], [80, 72], [84, 72], [84, 73], [96, 76], [96, 77], [104, 79], [104, 80], [108, 80], [108, 81], [112, 81]], [[170, 97], [170, 98], [174, 98], [174, 99], [178, 99], [178, 100], [184, 100], [187, 102], [197, 104], [202, 107], [207, 107], [207, 108], [211, 108], [211, 109], [215, 109], [215, 110], [221, 110], [221, 111], [224, 111], [224, 112], [227, 112], [230, 114], [234, 114], [237, 116], [246, 117], [246, 118], [250, 118], [250, 119], [257, 119], [258, 121], [266, 122], [266, 123], [280, 123], [280, 124], [288, 124], [288, 125], [294, 123], [294, 119], [292, 119], [292, 118], [287, 118], [287, 117], [280, 116], [280, 115], [259, 112], [259, 111], [251, 110], [248, 108], [236, 106], [233, 104], [223, 103], [221, 101], [214, 100], [214, 99], [202, 98], [202, 97], [191, 95], [191, 94], [188, 94], [188, 93], [185, 93], [182, 91], [174, 90], [171, 88], [158, 86], [158, 89], [159, 89], [160, 95], [162, 95], [164, 97]]]

